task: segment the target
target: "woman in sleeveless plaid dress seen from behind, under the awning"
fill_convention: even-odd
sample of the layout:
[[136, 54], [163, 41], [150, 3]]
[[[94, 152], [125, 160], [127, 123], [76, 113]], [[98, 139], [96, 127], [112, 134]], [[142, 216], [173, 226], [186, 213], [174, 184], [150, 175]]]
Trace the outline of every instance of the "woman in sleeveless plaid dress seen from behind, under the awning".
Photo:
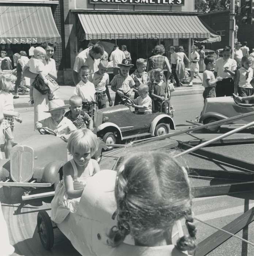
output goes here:
[[147, 72], [150, 80], [150, 84], [153, 83], [154, 78], [154, 70], [157, 68], [164, 69], [166, 67], [167, 69], [167, 76], [163, 78], [164, 82], [169, 80], [171, 76], [171, 67], [168, 61], [168, 58], [166, 56], [163, 56], [165, 52], [165, 48], [163, 45], [156, 45], [153, 49], [153, 56], [148, 59], [147, 63]]

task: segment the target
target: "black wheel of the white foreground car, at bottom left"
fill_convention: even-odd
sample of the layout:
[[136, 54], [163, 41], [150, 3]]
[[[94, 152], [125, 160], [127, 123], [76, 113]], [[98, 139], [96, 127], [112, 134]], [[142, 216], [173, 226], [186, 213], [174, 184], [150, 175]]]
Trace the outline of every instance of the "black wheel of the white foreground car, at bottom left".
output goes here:
[[49, 250], [54, 244], [54, 231], [51, 219], [46, 211], [39, 211], [37, 215], [37, 232], [43, 247]]

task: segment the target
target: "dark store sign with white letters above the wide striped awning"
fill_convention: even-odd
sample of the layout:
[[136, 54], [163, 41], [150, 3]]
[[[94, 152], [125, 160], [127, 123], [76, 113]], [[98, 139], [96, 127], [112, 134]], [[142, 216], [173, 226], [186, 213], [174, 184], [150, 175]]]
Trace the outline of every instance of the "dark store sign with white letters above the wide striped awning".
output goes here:
[[90, 0], [90, 4], [184, 5], [185, 0]]

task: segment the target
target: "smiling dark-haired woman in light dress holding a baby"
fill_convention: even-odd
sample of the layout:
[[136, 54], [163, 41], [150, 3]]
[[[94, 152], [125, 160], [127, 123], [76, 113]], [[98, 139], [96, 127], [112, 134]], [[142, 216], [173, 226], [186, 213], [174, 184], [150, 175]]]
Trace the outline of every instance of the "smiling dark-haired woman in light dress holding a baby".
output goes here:
[[[54, 61], [54, 59], [52, 59], [55, 45], [50, 42], [44, 42], [42, 44], [42, 47], [46, 50], [44, 64], [46, 66], [46, 69], [48, 69], [48, 76], [56, 80], [57, 79], [56, 62]], [[34, 82], [34, 79], [36, 78], [37, 74], [31, 73], [29, 71], [29, 67], [24, 67], [23, 76], [27, 76], [31, 78], [30, 80], [30, 85], [31, 85]], [[33, 102], [31, 103], [34, 103], [34, 125], [35, 125], [38, 121], [50, 117], [50, 113], [45, 112], [49, 110], [49, 107], [48, 107], [49, 100], [48, 100], [47, 94], [43, 95], [35, 88], [33, 89], [32, 100]], [[36, 127], [34, 129], [35, 131], [37, 131]]]

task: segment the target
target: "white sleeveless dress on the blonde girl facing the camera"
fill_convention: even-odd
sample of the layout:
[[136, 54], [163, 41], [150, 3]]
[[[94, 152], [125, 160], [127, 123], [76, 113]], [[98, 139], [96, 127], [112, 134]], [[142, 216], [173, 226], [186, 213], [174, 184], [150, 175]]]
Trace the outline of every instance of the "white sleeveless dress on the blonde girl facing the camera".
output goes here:
[[[86, 187], [87, 179], [93, 175], [92, 159], [88, 162], [87, 167], [80, 177], [77, 177], [77, 167], [73, 159], [70, 160], [74, 175], [73, 175], [73, 187], [74, 189], [82, 189]], [[88, 175], [87, 175], [88, 174]], [[64, 178], [56, 187], [55, 196], [51, 202], [51, 219], [56, 223], [61, 223], [67, 217], [70, 212], [76, 212], [79, 206], [79, 198], [69, 199], [66, 193]]]

